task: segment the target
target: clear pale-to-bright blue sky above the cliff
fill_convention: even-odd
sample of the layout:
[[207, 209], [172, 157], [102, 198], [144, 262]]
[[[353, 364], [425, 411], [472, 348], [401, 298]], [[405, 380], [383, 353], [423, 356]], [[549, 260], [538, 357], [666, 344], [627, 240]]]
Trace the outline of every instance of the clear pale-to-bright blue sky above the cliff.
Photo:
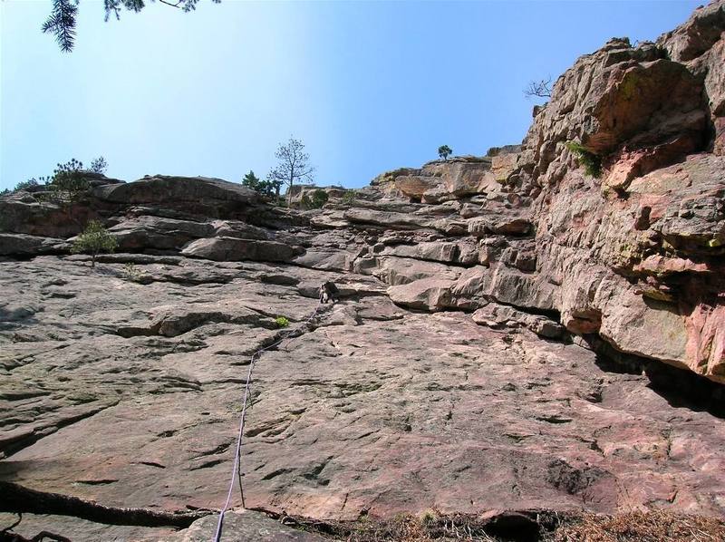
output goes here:
[[266, 175], [304, 140], [316, 183], [366, 185], [448, 144], [518, 143], [527, 82], [613, 36], [653, 40], [702, 1], [147, 2], [103, 22], [81, 0], [73, 53], [40, 25], [50, 0], [0, 1], [0, 189], [56, 162], [108, 175]]

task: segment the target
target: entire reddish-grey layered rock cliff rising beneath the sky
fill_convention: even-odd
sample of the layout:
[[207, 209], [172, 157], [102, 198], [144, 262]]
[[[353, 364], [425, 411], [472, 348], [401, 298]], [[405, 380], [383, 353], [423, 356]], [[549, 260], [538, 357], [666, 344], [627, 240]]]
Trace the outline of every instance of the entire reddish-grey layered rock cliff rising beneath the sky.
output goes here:
[[[0, 480], [219, 508], [249, 356], [285, 316], [300, 333], [254, 375], [248, 507], [723, 517], [724, 32], [717, 1], [656, 43], [613, 39], [556, 81], [521, 145], [327, 189], [322, 209], [160, 175], [94, 176], [72, 205], [0, 198]], [[95, 269], [70, 256], [89, 219], [119, 242]], [[328, 280], [341, 302], [303, 325]], [[0, 502], [28, 512], [25, 537], [215, 526]], [[228, 525], [322, 539], [249, 511]]]

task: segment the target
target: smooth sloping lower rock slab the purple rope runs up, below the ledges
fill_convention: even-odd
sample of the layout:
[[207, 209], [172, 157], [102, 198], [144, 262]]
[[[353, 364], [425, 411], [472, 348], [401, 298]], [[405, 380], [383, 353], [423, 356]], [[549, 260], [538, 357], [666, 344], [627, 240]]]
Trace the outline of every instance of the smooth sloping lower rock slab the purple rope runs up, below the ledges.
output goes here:
[[3, 479], [113, 506], [220, 506], [249, 355], [276, 315], [295, 326], [314, 309], [301, 285], [333, 279], [362, 295], [257, 365], [247, 505], [723, 512], [722, 420], [590, 350], [396, 309], [364, 276], [145, 256], [139, 284], [122, 256], [95, 271], [78, 256], [0, 263], [15, 307], [0, 330]]

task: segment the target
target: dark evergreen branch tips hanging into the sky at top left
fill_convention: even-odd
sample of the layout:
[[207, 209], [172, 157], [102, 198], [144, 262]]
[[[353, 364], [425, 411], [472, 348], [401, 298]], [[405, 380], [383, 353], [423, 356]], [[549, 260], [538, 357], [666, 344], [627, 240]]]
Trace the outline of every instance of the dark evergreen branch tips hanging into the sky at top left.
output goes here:
[[[150, 1], [153, 2], [154, 0]], [[198, 4], [198, 0], [159, 0], [159, 2], [185, 12], [194, 11]], [[211, 2], [219, 4], [221, 0], [211, 0]], [[70, 53], [73, 51], [73, 45], [75, 45], [75, 25], [79, 3], [80, 0], [53, 0], [51, 15], [48, 16], [42, 26], [44, 33], [55, 36], [55, 41], [63, 53]], [[146, 7], [145, 0], [103, 0], [106, 21], [111, 16], [114, 16], [116, 20], [120, 19], [121, 11], [124, 9], [139, 13], [144, 7]]]

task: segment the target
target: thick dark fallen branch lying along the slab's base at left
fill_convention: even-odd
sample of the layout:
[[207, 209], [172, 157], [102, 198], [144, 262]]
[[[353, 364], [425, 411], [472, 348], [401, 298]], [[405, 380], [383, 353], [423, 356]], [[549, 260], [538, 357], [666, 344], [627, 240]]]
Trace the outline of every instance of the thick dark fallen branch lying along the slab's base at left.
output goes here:
[[0, 512], [73, 516], [107, 525], [184, 528], [198, 518], [216, 513], [214, 510], [204, 509], [164, 512], [148, 508], [106, 507], [92, 500], [36, 491], [4, 481], [0, 481], [0, 495]]

